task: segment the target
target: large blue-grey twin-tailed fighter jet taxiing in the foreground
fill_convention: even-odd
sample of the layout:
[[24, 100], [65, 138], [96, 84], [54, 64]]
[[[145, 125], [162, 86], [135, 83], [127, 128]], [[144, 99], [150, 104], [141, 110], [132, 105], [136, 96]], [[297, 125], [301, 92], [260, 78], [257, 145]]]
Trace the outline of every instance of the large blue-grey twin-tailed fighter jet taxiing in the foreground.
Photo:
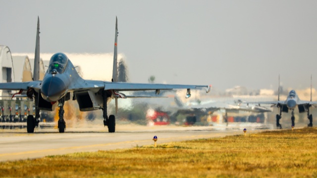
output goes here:
[[[117, 69], [117, 18], [115, 21], [113, 71], [111, 82], [84, 80], [76, 72], [74, 65], [64, 53], [55, 53], [51, 57], [49, 67], [43, 81], [39, 80], [40, 62], [40, 20], [38, 17], [36, 47], [34, 60], [34, 76], [31, 82], [1, 83], [0, 89], [27, 91], [27, 97], [35, 100], [35, 118], [29, 115], [27, 118], [27, 132], [33, 133], [35, 126], [39, 124], [40, 110], [53, 111], [56, 106], [58, 111], [58, 131], [64, 133], [66, 124], [64, 121], [64, 103], [69, 99], [77, 100], [80, 111], [103, 110], [104, 126], [108, 127], [109, 133], [115, 132], [115, 116], [107, 115], [107, 104], [111, 99], [115, 100], [117, 112], [117, 99], [128, 97], [148, 97], [148, 96], [128, 96], [122, 91], [153, 90], [159, 94], [160, 90], [167, 89], [187, 89], [185, 97], [190, 97], [190, 89], [207, 88], [210, 86], [201, 85], [165, 85], [165, 84], [136, 84], [118, 82]], [[73, 97], [71, 98], [71, 93]], [[14, 95], [13, 95], [14, 96]], [[12, 97], [13, 97], [12, 96]]]

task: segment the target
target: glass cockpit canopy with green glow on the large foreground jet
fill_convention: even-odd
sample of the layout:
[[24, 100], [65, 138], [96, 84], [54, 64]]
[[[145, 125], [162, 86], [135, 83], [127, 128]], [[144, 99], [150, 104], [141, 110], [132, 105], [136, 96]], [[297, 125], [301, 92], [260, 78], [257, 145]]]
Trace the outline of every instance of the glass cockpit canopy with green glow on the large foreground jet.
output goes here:
[[51, 57], [48, 73], [63, 73], [68, 62], [68, 57], [63, 53], [56, 53]]

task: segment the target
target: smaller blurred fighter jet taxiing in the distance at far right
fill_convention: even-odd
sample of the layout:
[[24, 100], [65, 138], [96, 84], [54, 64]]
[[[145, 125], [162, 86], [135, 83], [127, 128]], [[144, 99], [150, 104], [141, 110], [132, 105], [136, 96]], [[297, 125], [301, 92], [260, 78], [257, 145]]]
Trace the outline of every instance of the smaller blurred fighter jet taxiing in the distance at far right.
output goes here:
[[[312, 83], [312, 77], [311, 77]], [[258, 103], [260, 104], [271, 104], [272, 106], [276, 106], [279, 108], [279, 114], [276, 114], [276, 127], [282, 129], [282, 125], [279, 123], [279, 120], [282, 118], [282, 112], [288, 113], [288, 111], [292, 112], [291, 120], [292, 126], [295, 126], [295, 116], [294, 116], [294, 109], [298, 107], [300, 113], [307, 112], [307, 117], [309, 119], [308, 127], [313, 127], [313, 115], [310, 114], [309, 108], [311, 106], [317, 107], [317, 102], [312, 101], [312, 84], [311, 84], [311, 100], [310, 101], [303, 101], [300, 100], [295, 90], [291, 90], [286, 98], [285, 101], [279, 100], [279, 77], [278, 77], [278, 96], [277, 101], [265, 101], [265, 102], [249, 102], [249, 103]]]

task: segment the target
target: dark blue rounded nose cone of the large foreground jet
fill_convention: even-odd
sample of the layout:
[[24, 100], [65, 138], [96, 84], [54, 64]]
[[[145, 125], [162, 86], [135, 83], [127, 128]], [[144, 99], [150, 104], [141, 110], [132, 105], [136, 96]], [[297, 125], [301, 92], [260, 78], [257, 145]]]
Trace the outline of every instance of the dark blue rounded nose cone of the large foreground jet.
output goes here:
[[66, 86], [57, 76], [46, 78], [42, 82], [41, 95], [50, 102], [58, 101], [64, 94]]

